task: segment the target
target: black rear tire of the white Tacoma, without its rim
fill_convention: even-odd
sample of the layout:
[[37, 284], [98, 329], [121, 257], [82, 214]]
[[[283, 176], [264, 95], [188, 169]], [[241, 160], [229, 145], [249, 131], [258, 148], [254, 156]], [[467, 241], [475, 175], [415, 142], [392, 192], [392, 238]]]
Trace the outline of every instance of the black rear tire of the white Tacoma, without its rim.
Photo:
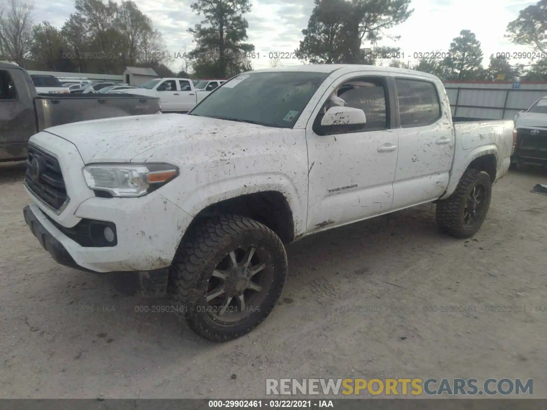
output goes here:
[[[484, 209], [482, 209], [478, 220], [472, 225], [466, 225], [464, 222], [465, 206], [470, 193], [475, 186], [481, 184], [485, 187], [486, 198]], [[492, 183], [490, 175], [478, 169], [467, 169], [459, 180], [456, 191], [445, 200], [437, 202], [437, 211], [435, 218], [440, 230], [456, 238], [469, 238], [480, 229], [482, 222], [486, 218], [490, 200], [492, 197]]]

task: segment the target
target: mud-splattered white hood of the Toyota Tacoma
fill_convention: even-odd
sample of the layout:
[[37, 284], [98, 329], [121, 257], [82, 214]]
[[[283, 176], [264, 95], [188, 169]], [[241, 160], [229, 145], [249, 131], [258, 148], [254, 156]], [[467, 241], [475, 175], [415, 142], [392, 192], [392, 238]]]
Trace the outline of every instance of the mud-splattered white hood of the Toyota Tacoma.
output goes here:
[[[271, 128], [184, 114], [156, 114], [74, 122], [45, 132], [68, 140], [85, 163], [130, 162], [139, 154], [165, 144], [192, 147], [219, 145]], [[43, 136], [42, 136], [43, 137]], [[32, 142], [32, 138], [31, 138]]]

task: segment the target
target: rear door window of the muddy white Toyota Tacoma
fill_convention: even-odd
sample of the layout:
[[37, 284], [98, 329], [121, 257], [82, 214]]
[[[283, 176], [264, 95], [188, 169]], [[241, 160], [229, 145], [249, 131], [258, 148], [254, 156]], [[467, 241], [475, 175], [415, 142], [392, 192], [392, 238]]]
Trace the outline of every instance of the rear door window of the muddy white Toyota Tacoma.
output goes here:
[[432, 81], [395, 78], [401, 127], [420, 127], [437, 122], [441, 106], [437, 87]]

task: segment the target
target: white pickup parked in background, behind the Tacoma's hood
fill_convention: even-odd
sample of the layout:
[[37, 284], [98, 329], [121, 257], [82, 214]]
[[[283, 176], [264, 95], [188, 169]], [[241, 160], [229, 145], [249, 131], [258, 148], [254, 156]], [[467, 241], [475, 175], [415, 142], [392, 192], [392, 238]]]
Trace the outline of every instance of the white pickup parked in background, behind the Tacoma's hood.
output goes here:
[[192, 80], [186, 78], [156, 78], [137, 86], [136, 89], [124, 90], [127, 94], [160, 98], [164, 113], [188, 112], [211, 91], [196, 92]]

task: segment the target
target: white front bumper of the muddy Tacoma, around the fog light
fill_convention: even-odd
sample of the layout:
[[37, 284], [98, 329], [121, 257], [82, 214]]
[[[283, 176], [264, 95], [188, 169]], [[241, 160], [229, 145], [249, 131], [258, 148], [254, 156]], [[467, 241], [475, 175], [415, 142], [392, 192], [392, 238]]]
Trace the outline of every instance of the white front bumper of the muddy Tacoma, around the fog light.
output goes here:
[[80, 245], [58, 229], [38, 203], [26, 207], [24, 213], [34, 236], [57, 262], [100, 273], [170, 266], [184, 233], [182, 227], [189, 224], [189, 215], [157, 192], [140, 198], [93, 197], [80, 204], [75, 212], [79, 220], [115, 224], [117, 243], [112, 247]]

